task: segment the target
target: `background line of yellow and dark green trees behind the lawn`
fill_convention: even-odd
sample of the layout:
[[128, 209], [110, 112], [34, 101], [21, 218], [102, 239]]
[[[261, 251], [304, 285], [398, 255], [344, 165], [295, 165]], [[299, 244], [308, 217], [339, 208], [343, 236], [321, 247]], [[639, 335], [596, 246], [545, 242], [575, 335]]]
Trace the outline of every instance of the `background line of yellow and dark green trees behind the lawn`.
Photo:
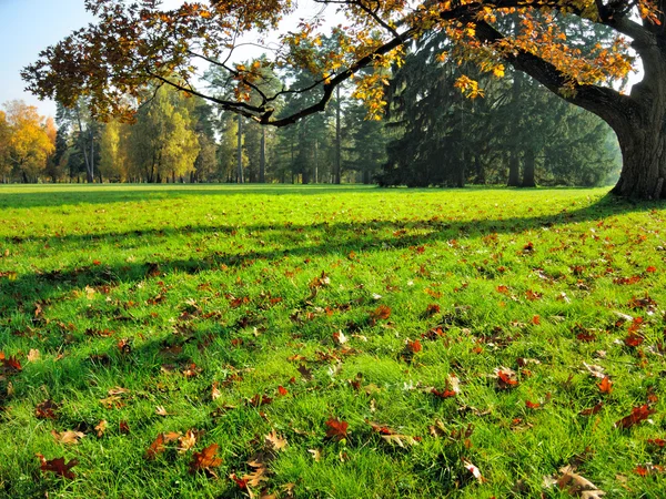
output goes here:
[[[325, 40], [322, 50], [331, 43]], [[366, 120], [362, 95], [344, 90], [325, 112], [281, 129], [168, 86], [147, 89], [131, 124], [97, 122], [84, 100], [72, 109], [59, 106], [56, 122], [12, 102], [0, 112], [0, 175], [3, 182], [385, 186], [592, 186], [616, 180], [619, 151], [601, 119], [523, 73], [507, 69], [496, 78], [472, 65], [443, 63], [437, 54], [445, 49], [444, 37], [433, 34], [411, 48], [401, 68], [382, 75], [390, 89], [383, 121]], [[263, 72], [259, 85], [279, 84], [276, 74]], [[461, 92], [468, 90], [460, 88], [465, 74], [483, 88], [475, 99]], [[304, 70], [281, 75], [294, 88], [315, 84]], [[226, 78], [214, 67], [205, 74], [212, 88]], [[276, 113], [289, 115], [316, 99], [316, 92], [285, 93]]]

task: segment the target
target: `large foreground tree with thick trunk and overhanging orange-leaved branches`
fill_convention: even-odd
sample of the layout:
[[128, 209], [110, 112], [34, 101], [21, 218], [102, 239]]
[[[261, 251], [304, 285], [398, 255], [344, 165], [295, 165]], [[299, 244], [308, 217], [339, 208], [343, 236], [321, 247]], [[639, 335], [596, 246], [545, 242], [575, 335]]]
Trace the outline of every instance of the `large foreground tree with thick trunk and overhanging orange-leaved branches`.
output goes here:
[[[263, 124], [283, 126], [322, 111], [337, 85], [354, 80], [355, 98], [380, 115], [385, 102], [385, 70], [400, 64], [404, 47], [442, 32], [452, 49], [441, 61], [473, 61], [497, 77], [505, 64], [528, 73], [548, 90], [605, 120], [617, 134], [623, 171], [614, 192], [634, 197], [666, 197], [666, 0], [313, 0], [344, 16], [322, 42], [323, 16], [281, 35], [273, 58], [232, 64], [229, 51], [241, 34], [275, 29], [293, 12], [291, 0], [210, 0], [165, 10], [160, 2], [88, 0], [98, 23], [46, 49], [23, 78], [38, 95], [73, 105], [91, 98], [93, 111], [129, 118], [127, 103], [142, 99], [151, 81], [194, 93]], [[605, 44], [581, 44], [569, 34], [615, 33]], [[592, 40], [592, 39], [591, 39]], [[644, 77], [630, 93], [617, 89], [632, 69], [628, 45], [640, 59]], [[196, 67], [206, 61], [229, 72], [231, 92], [195, 89]], [[276, 91], [262, 85], [264, 69], [307, 70], [315, 84]], [[361, 71], [363, 68], [375, 71]], [[456, 83], [466, 95], [483, 90], [468, 78]], [[281, 96], [314, 92], [291, 114], [276, 111]], [[216, 95], [229, 95], [219, 98]]]

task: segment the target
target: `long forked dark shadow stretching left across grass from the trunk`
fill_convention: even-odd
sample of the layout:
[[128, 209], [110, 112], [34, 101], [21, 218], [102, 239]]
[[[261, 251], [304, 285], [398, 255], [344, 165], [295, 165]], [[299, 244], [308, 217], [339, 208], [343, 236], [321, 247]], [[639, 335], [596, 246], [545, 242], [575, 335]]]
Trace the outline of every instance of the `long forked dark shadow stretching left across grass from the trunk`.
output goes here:
[[[189, 192], [189, 191], [188, 191]], [[243, 191], [245, 192], [245, 191]], [[263, 191], [262, 191], [263, 192]], [[303, 192], [301, 189], [299, 193]], [[77, 268], [58, 268], [49, 272], [36, 271], [21, 274], [14, 281], [0, 277], [0, 312], [8, 312], [27, 302], [47, 299], [53, 295], [62, 295], [70, 289], [115, 283], [137, 283], [144, 279], [159, 266], [160, 273], [184, 272], [196, 274], [214, 271], [222, 266], [243, 267], [256, 262], [272, 263], [284, 257], [311, 258], [327, 255], [346, 256], [350, 251], [382, 251], [384, 248], [407, 248], [440, 241], [465, 237], [483, 237], [493, 233], [523, 233], [545, 227], [566, 226], [586, 221], [601, 221], [612, 215], [627, 212], [648, 211], [657, 203], [635, 204], [607, 195], [594, 205], [576, 211], [533, 217], [511, 217], [480, 221], [446, 221], [441, 218], [417, 221], [366, 221], [315, 224], [256, 224], [243, 230], [261, 237], [280, 249], [255, 249], [241, 253], [210, 251], [191, 258], [161, 258], [157, 262], [119, 263], [117, 265], [82, 266]], [[87, 251], [90, 243], [118, 244], [125, 237], [141, 237], [143, 245], [150, 245], [150, 237], [172, 235], [195, 236], [216, 232], [232, 234], [236, 227], [228, 225], [199, 225], [181, 228], [155, 228], [148, 231], [127, 231], [104, 234], [67, 234], [62, 236], [29, 237], [27, 240], [8, 237], [9, 243], [44, 242], [64, 244], [68, 251]], [[410, 234], [418, 230], [421, 234]], [[425, 234], [423, 232], [426, 232]], [[319, 244], [299, 245], [303, 241], [321, 241]], [[2, 240], [0, 240], [2, 242]], [[286, 244], [285, 244], [286, 243]]]

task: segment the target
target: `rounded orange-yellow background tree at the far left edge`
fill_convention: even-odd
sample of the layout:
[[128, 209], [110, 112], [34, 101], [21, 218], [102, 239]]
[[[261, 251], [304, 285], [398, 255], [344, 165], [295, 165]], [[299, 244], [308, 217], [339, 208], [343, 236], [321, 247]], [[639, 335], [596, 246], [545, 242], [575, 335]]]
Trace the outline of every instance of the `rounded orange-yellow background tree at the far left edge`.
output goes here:
[[54, 131], [44, 123], [37, 108], [23, 101], [4, 104], [9, 125], [8, 162], [23, 182], [37, 181], [47, 167], [49, 154], [56, 150]]

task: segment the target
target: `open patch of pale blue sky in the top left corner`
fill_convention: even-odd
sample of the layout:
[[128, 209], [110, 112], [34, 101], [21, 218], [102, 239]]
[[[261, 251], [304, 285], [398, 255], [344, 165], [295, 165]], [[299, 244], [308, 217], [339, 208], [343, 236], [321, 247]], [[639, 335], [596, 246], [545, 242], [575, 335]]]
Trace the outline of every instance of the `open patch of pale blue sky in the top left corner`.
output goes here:
[[26, 92], [19, 72], [37, 60], [40, 50], [90, 20], [83, 0], [0, 0], [0, 105], [22, 99], [41, 114], [54, 115], [56, 104]]

